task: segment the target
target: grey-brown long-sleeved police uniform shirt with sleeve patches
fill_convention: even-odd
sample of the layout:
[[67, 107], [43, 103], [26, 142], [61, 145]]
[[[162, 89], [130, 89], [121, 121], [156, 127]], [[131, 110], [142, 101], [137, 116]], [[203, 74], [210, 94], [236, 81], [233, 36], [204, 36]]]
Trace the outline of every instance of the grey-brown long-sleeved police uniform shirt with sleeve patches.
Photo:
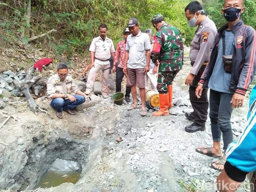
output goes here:
[[191, 74], [197, 75], [204, 61], [209, 61], [216, 35], [215, 23], [206, 17], [198, 26], [191, 42], [189, 57], [191, 61], [195, 61]]

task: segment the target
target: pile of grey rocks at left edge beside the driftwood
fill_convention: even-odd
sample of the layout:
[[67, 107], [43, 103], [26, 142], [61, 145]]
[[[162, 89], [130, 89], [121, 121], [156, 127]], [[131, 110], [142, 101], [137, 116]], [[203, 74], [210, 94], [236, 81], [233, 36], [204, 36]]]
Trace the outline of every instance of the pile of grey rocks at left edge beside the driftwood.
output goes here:
[[0, 109], [6, 106], [5, 102], [9, 101], [11, 95], [20, 97], [22, 92], [15, 86], [14, 80], [22, 80], [26, 76], [26, 72], [20, 70], [17, 74], [8, 70], [0, 74]]

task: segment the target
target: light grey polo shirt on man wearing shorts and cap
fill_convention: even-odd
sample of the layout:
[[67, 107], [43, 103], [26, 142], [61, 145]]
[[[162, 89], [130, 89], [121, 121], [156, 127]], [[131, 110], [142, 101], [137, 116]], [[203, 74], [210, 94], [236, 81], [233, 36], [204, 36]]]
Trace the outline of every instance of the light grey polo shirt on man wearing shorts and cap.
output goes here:
[[146, 50], [150, 50], [150, 40], [148, 34], [139, 33], [136, 36], [132, 34], [127, 37], [126, 50], [129, 51], [129, 60], [127, 67], [131, 69], [146, 67]]

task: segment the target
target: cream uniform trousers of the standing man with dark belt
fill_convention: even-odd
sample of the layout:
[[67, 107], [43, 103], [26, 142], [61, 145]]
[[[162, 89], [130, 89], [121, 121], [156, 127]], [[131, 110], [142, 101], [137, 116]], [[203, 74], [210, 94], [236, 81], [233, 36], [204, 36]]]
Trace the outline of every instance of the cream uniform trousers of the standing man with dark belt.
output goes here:
[[102, 70], [102, 82], [101, 82], [101, 94], [106, 95], [108, 94], [108, 79], [109, 79], [109, 72], [110, 72], [110, 63], [107, 61], [102, 62], [95, 60], [94, 67], [91, 68], [88, 79], [86, 83], [86, 92], [93, 91], [93, 84], [95, 80], [95, 76], [97, 72], [101, 69]]

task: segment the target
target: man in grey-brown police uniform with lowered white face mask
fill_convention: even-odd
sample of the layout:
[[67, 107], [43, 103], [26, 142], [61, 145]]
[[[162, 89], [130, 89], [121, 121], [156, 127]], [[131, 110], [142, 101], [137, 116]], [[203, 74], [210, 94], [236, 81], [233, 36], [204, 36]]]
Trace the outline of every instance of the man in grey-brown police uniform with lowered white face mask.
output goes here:
[[195, 90], [210, 59], [217, 28], [214, 22], [204, 15], [203, 7], [198, 1], [192, 1], [187, 5], [185, 16], [188, 19], [189, 26], [198, 26], [189, 52], [192, 69], [185, 80], [185, 84], [190, 86], [189, 99], [194, 110], [191, 113], [186, 113], [185, 116], [189, 120], [193, 120], [194, 123], [185, 127], [185, 131], [204, 131], [209, 106], [208, 89], [203, 90], [200, 99], [197, 99]]

